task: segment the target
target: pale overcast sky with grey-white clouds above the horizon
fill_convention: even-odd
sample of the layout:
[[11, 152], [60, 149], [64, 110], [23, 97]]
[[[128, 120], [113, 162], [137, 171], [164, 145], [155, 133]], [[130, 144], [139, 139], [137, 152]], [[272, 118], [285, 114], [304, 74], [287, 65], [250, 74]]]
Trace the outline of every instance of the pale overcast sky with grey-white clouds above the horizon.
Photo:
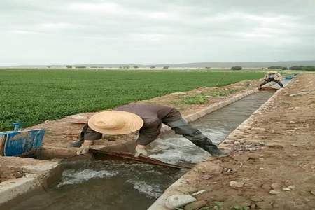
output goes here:
[[314, 59], [314, 0], [0, 1], [0, 65]]

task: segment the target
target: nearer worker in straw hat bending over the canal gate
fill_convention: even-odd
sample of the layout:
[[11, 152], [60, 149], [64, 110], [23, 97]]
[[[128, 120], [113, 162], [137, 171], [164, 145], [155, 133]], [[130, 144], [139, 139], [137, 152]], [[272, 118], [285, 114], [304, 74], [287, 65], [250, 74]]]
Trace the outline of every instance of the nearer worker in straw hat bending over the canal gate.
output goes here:
[[84, 154], [89, 151], [93, 141], [102, 139], [102, 134], [130, 134], [139, 130], [135, 156], [148, 155], [146, 145], [158, 138], [162, 123], [172, 127], [176, 134], [183, 135], [214, 157], [228, 155], [200, 130], [189, 125], [177, 109], [154, 104], [127, 104], [111, 111], [97, 113], [85, 124], [78, 141], [69, 146], [79, 147], [77, 154]]

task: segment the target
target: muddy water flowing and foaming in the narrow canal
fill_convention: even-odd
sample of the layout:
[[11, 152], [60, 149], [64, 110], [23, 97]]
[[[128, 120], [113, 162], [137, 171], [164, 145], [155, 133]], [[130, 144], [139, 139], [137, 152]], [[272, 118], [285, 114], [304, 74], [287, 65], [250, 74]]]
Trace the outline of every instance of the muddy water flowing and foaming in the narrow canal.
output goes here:
[[[259, 92], [197, 120], [193, 125], [216, 144], [263, 104], [273, 92]], [[168, 134], [155, 141], [151, 157], [171, 163], [195, 163], [208, 154], [190, 141]], [[147, 209], [184, 173], [144, 164], [80, 161], [65, 165], [62, 180], [46, 193], [10, 209]]]

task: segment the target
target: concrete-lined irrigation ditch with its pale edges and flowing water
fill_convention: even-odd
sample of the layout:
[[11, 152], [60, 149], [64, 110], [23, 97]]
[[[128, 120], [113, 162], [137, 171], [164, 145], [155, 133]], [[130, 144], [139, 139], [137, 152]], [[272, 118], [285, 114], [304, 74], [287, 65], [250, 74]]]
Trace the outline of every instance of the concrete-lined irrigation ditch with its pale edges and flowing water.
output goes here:
[[[278, 93], [279, 91], [276, 92]], [[251, 123], [251, 114], [254, 111], [262, 111], [266, 106], [262, 104], [272, 103], [276, 94], [249, 90], [186, 116], [186, 120], [209, 135], [216, 144], [220, 144], [225, 139], [221, 145], [223, 148], [230, 148], [232, 131], [239, 125]], [[169, 130], [169, 127], [162, 127], [162, 136], [154, 142], [150, 151], [152, 158], [186, 165], [195, 165], [209, 158], [206, 152], [191, 144], [190, 141], [169, 133]], [[132, 144], [133, 142], [124, 142], [111, 146], [108, 150], [130, 151]], [[41, 153], [43, 159], [47, 160], [64, 158], [73, 154], [73, 150], [57, 151], [54, 148], [43, 148]], [[41, 161], [44, 165], [54, 162]], [[137, 209], [148, 209], [151, 204], [153, 205], [150, 209], [164, 209], [165, 197], [172, 193], [172, 189], [176, 188], [176, 185], [183, 181], [187, 174], [191, 173], [187, 170], [168, 169], [137, 162], [90, 160], [89, 157], [63, 163], [56, 161], [53, 167], [29, 171], [29, 174], [33, 175], [29, 175], [30, 179], [27, 181], [11, 184], [5, 190], [1, 188], [0, 197], [7, 196], [6, 199], [0, 200], [0, 207], [10, 209], [130, 209], [132, 203], [137, 204]], [[60, 176], [59, 182], [56, 181]], [[47, 181], [48, 178], [54, 180], [55, 183]], [[10, 183], [10, 180], [7, 182]]]

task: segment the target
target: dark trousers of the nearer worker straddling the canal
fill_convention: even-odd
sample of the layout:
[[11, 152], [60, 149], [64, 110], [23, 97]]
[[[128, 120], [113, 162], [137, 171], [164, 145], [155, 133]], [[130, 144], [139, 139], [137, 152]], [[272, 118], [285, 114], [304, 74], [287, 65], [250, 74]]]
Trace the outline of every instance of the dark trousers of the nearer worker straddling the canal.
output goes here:
[[205, 151], [209, 152], [218, 150], [218, 147], [213, 144], [208, 137], [204, 136], [200, 130], [197, 130], [195, 127], [189, 125], [183, 118], [165, 124], [172, 127], [175, 134], [183, 135], [183, 137], [193, 142], [196, 146], [203, 148]]

